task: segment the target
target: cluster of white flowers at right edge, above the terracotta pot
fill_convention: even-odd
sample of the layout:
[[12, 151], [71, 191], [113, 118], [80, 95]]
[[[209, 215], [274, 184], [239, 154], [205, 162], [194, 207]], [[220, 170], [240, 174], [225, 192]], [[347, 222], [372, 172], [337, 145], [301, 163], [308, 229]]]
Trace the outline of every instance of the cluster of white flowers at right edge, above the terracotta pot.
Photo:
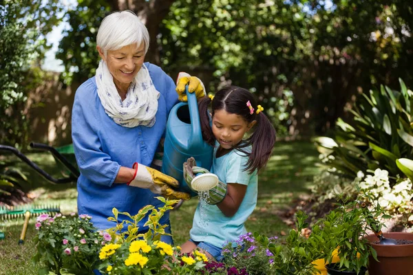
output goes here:
[[367, 175], [359, 183], [359, 188], [377, 199], [381, 208], [389, 214], [410, 214], [409, 220], [413, 220], [413, 190], [410, 179], [403, 179], [390, 187], [388, 171], [377, 168], [374, 175]]

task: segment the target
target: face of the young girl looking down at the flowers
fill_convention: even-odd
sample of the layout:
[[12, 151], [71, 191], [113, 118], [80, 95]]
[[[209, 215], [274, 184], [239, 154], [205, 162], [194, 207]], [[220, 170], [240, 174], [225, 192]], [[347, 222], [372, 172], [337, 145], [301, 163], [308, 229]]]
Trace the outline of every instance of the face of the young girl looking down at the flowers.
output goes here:
[[212, 118], [212, 132], [221, 147], [233, 148], [240, 143], [244, 134], [255, 124], [248, 124], [241, 115], [227, 113], [225, 110], [215, 111]]

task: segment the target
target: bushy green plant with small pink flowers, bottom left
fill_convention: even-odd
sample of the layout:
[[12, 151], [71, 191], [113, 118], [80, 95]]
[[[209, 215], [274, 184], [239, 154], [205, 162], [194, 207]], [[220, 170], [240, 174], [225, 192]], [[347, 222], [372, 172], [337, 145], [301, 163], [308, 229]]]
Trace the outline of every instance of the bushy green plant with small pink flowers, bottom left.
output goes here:
[[[42, 263], [39, 274], [92, 274], [104, 234], [97, 232], [92, 217], [71, 214], [41, 214], [36, 219], [36, 254], [32, 261]], [[108, 234], [105, 235], [110, 237]]]

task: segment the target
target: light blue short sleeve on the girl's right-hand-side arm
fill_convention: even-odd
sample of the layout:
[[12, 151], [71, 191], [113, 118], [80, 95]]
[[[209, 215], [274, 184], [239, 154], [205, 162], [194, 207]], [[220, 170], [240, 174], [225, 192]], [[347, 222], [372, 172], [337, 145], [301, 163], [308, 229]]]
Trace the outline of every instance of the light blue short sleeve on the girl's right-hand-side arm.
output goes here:
[[227, 184], [244, 184], [248, 185], [251, 175], [249, 170], [244, 171], [246, 168], [246, 162], [248, 162], [248, 156], [242, 153], [234, 153], [229, 159], [228, 166], [226, 168], [226, 183]]

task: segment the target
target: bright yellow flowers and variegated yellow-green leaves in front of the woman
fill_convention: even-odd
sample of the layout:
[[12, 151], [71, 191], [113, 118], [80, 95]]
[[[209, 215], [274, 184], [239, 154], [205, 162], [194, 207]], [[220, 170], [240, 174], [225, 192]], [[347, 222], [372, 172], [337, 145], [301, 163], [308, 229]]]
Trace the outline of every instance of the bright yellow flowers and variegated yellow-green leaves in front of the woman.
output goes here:
[[[127, 212], [118, 212], [116, 208], [112, 210], [114, 217], [108, 219], [115, 221], [116, 226], [107, 230], [112, 241], [103, 246], [99, 253], [102, 262], [98, 270], [102, 274], [195, 274], [203, 269], [204, 262], [207, 262], [207, 256], [203, 253], [195, 251], [192, 256], [181, 255], [180, 247], [160, 241], [160, 236], [167, 234], [167, 225], [160, 225], [160, 218], [177, 201], [163, 197], [157, 199], [165, 205], [158, 209], [145, 206], [133, 216]], [[149, 231], [139, 234], [138, 222], [148, 212], [145, 226], [149, 227]], [[126, 215], [130, 220], [124, 219], [122, 223], [118, 223], [119, 214]], [[125, 225], [127, 231], [122, 232]]]

